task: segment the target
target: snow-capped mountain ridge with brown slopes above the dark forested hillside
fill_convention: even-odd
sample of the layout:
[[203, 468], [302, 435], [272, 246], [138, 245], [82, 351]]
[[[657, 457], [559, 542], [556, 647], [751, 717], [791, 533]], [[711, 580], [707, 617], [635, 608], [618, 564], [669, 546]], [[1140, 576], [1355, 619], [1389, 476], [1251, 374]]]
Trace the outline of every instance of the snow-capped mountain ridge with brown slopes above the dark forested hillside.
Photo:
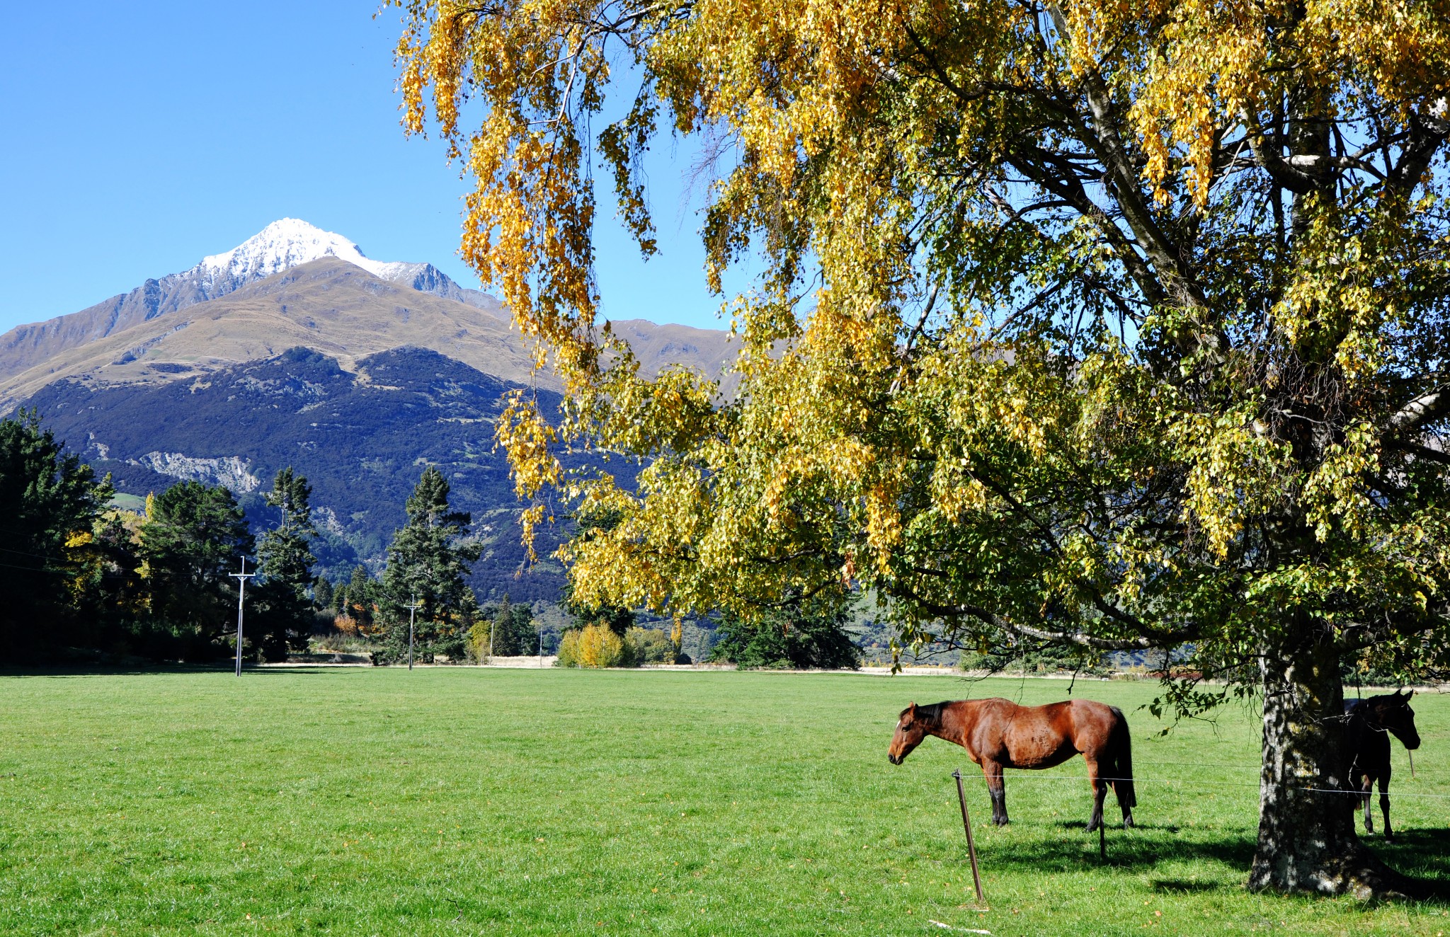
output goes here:
[[[719, 329], [612, 322], [648, 374], [667, 366], [724, 379]], [[492, 296], [432, 264], [374, 261], [347, 238], [281, 219], [231, 251], [130, 293], [0, 335], [0, 413], [51, 381], [162, 383], [276, 355], [294, 345], [344, 367], [416, 345], [505, 380], [558, 389]]]

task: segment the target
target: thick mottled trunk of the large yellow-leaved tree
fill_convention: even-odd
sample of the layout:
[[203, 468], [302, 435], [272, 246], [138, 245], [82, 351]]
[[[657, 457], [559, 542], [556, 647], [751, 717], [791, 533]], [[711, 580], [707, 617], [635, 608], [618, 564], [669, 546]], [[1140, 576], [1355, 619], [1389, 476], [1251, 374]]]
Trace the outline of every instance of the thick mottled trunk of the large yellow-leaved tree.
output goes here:
[[1338, 651], [1308, 638], [1267, 653], [1259, 847], [1248, 886], [1360, 898], [1408, 893], [1354, 831], [1344, 788], [1344, 685]]

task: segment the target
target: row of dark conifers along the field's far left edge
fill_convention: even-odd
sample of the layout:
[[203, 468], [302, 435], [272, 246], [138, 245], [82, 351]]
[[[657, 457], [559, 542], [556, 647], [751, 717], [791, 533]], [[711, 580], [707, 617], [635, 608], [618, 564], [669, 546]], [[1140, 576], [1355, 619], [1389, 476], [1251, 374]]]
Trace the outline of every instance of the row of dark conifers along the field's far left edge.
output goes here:
[[[248, 561], [244, 657], [280, 661], [341, 622], [371, 638], [376, 663], [407, 653], [407, 605], [423, 660], [463, 659], [480, 621], [464, 582], [480, 547], [470, 516], [448, 505], [448, 482], [428, 467], [381, 579], [358, 566], [334, 585], [315, 574], [312, 486], [283, 469], [264, 495], [274, 519], [254, 535], [225, 486], [180, 482], [146, 498], [142, 513], [112, 505], [96, 471], [22, 410], [0, 421], [0, 664], [144, 657], [188, 663], [236, 653], [238, 583]], [[506, 609], [503, 651], [534, 634], [528, 606]], [[487, 628], [484, 630], [487, 634]], [[528, 653], [528, 651], [525, 651]]]

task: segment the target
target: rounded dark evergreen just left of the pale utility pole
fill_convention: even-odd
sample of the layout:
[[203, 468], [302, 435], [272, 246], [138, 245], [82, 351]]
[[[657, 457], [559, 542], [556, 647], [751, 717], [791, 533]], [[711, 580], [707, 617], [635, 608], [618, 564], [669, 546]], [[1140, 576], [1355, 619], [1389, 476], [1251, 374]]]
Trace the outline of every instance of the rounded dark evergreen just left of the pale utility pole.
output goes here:
[[149, 499], [139, 553], [151, 614], [174, 635], [177, 654], [228, 653], [236, 608], [231, 573], [251, 550], [246, 519], [226, 487], [181, 482]]

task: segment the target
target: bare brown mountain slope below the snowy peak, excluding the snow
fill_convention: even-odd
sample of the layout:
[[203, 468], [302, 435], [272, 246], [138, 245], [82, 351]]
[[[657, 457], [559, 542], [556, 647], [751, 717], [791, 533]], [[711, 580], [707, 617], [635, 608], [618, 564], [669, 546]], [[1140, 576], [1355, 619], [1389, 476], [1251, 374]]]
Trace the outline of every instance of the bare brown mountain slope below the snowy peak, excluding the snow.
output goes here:
[[[729, 355], [725, 332], [644, 321], [616, 323], [616, 329], [651, 373], [674, 363], [719, 376]], [[28, 361], [20, 373], [0, 374], [0, 410], [65, 377], [100, 383], [197, 379], [297, 345], [335, 357], [348, 370], [358, 358], [413, 345], [505, 380], [557, 387], [547, 371], [532, 376], [528, 347], [497, 315], [325, 257]]]

